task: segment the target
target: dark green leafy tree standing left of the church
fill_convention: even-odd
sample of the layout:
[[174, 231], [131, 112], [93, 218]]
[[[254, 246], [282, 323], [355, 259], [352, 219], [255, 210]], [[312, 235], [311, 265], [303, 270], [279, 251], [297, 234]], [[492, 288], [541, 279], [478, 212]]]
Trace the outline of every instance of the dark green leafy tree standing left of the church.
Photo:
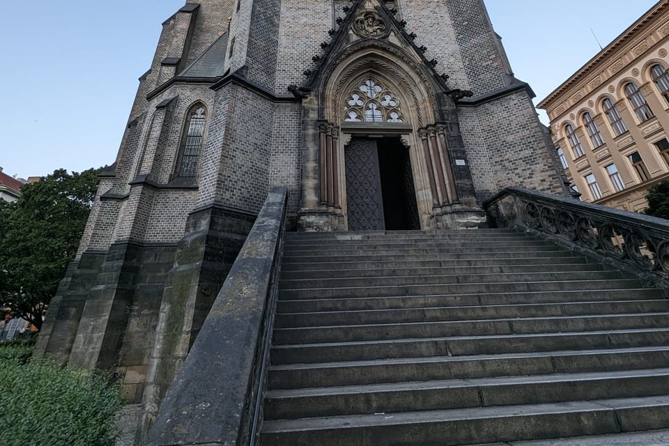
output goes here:
[[58, 169], [21, 187], [17, 201], [0, 200], [0, 307], [10, 316], [42, 327], [79, 247], [101, 170]]

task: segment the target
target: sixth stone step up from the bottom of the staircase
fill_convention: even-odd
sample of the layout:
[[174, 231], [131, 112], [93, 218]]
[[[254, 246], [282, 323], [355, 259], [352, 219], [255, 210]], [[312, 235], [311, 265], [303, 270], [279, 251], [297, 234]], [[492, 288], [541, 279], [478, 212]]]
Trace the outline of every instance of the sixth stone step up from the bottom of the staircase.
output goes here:
[[367, 325], [474, 319], [583, 316], [592, 314], [634, 314], [669, 312], [669, 300], [626, 300], [608, 302], [566, 302], [528, 305], [486, 305], [476, 307], [423, 307], [352, 312], [278, 314], [275, 328], [318, 327], [326, 325]]

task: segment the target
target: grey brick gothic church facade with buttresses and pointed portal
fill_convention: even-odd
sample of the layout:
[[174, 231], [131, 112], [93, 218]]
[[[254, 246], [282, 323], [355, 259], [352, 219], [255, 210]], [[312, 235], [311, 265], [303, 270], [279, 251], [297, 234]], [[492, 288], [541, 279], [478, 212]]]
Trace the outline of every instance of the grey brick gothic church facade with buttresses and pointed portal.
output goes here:
[[116, 371], [146, 424], [270, 187], [300, 231], [475, 228], [504, 187], [565, 193], [482, 0], [202, 0], [163, 26], [37, 346]]

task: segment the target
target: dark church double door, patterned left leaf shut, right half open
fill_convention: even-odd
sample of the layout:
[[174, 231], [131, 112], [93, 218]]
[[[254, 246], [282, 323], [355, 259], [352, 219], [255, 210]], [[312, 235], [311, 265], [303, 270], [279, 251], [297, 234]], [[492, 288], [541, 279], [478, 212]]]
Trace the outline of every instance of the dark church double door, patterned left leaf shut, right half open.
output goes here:
[[408, 148], [399, 138], [358, 138], [344, 148], [349, 231], [420, 229]]

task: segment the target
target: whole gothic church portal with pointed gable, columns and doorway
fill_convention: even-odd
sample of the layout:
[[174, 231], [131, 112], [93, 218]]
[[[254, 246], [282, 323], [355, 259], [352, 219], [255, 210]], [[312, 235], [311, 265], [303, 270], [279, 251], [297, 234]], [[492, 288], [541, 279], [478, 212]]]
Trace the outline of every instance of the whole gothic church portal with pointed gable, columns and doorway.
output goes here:
[[[449, 150], [462, 148], [454, 101], [383, 8], [349, 15], [350, 31], [339, 31], [348, 41], [335, 42], [302, 95], [302, 229], [451, 227], [441, 216], [463, 195], [475, 203], [473, 187], [461, 187], [471, 184], [468, 167], [456, 176]], [[383, 186], [393, 182], [401, 190]], [[393, 212], [410, 217], [390, 227], [401, 219], [383, 204], [400, 198]], [[368, 220], [376, 224], [360, 224]]]

